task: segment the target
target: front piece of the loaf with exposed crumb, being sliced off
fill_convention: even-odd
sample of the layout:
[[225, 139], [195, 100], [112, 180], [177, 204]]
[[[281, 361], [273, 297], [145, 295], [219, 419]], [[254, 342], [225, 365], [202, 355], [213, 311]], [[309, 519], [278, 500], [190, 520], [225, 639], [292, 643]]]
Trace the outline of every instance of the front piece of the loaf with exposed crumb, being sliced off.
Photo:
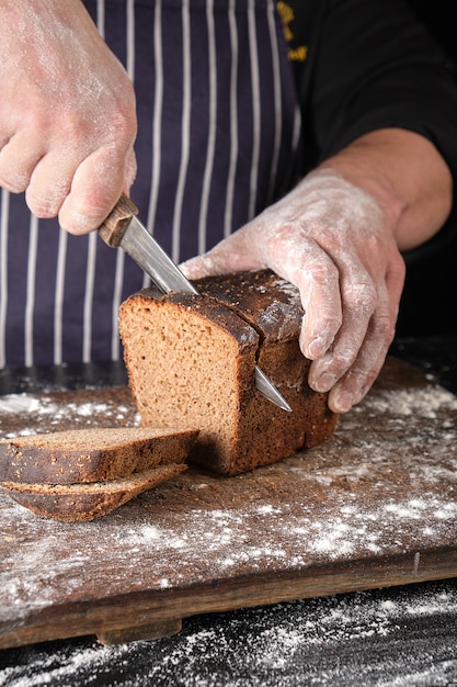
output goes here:
[[197, 455], [224, 472], [239, 415], [255, 394], [245, 384], [254, 374], [255, 330], [225, 306], [188, 294], [139, 294], [121, 322], [141, 424], [198, 427]]

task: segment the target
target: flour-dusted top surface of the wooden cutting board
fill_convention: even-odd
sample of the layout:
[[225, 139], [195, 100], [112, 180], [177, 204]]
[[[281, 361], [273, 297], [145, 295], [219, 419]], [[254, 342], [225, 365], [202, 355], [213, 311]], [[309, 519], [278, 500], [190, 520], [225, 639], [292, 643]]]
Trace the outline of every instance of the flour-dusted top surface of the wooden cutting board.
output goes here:
[[[56, 418], [132, 415], [116, 403], [43, 395], [1, 403], [24, 414], [19, 433], [42, 420], [49, 430]], [[455, 410], [457, 399], [441, 387], [378, 390], [341, 418], [328, 442], [281, 468], [231, 482], [188, 471], [93, 522], [45, 520], [0, 494], [0, 620], [26, 617], [70, 593], [83, 602], [94, 585], [98, 598], [115, 597], [247, 571], [305, 575], [350, 558], [402, 555], [412, 576], [420, 575], [424, 550], [457, 539]], [[2, 418], [0, 437], [8, 437]], [[238, 485], [230, 498], [226, 484]]]

